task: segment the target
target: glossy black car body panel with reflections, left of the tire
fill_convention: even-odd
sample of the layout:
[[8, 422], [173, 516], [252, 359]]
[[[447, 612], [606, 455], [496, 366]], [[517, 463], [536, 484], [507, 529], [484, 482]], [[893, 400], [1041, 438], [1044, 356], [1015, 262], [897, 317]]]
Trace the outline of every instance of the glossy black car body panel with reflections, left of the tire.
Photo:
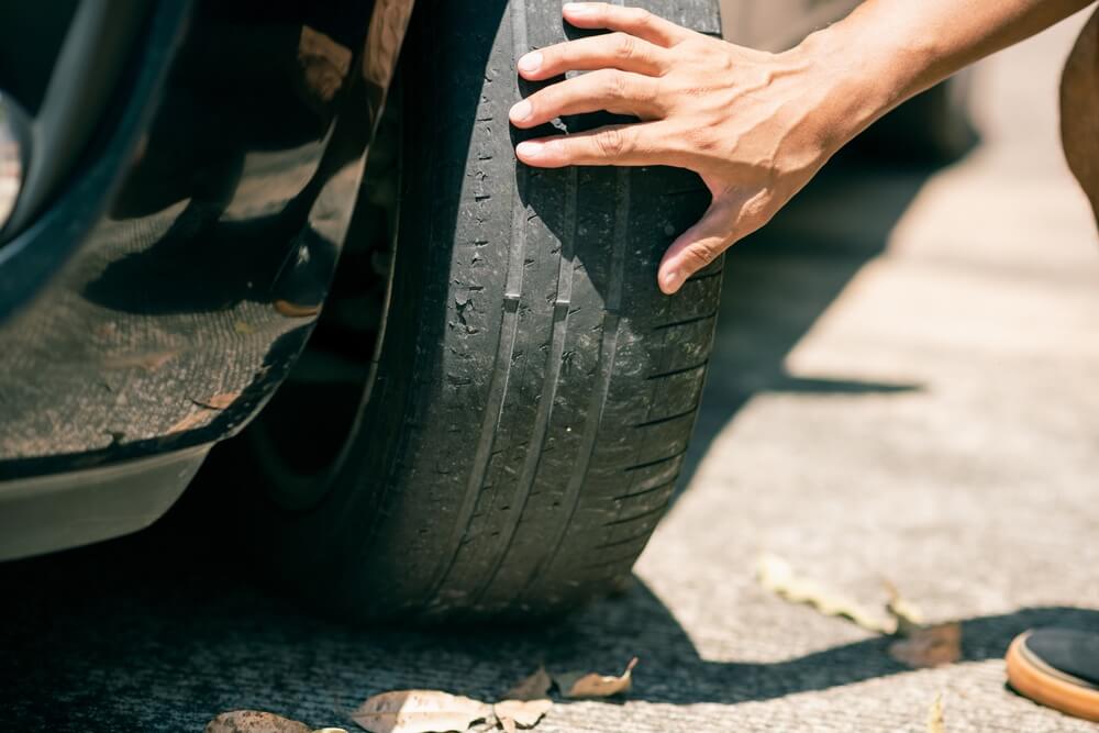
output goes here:
[[411, 9], [21, 16], [38, 43], [19, 49], [26, 78], [0, 81], [31, 138], [0, 235], [0, 558], [147, 525], [278, 387], [323, 302]]

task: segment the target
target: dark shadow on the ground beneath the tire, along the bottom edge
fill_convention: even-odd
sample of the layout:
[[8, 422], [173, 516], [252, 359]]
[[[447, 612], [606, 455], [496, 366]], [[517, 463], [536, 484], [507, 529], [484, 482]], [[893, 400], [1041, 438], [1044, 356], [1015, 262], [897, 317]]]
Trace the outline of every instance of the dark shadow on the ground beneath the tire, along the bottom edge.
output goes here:
[[[643, 666], [630, 699], [668, 704], [732, 706], [910, 671], [882, 636], [776, 662], [708, 659], [641, 584], [528, 629], [362, 629], [260, 587], [225, 562], [215, 522], [200, 531], [177, 517], [159, 532], [0, 567], [0, 728], [201, 730], [218, 712], [255, 708], [351, 730], [347, 713], [385, 690], [495, 699], [539, 664], [611, 671], [633, 655]], [[1025, 629], [1095, 629], [1099, 613], [1026, 608], [961, 622], [962, 662], [983, 662]]]

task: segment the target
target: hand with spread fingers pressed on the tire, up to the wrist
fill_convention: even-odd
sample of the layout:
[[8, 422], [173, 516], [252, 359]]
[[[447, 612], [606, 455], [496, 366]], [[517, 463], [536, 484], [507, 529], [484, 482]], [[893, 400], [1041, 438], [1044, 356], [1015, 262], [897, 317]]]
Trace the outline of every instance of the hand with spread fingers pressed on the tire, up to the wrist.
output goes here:
[[801, 49], [769, 54], [680, 27], [639, 8], [568, 3], [581, 29], [612, 33], [534, 51], [519, 74], [551, 85], [511, 108], [533, 127], [564, 114], [607, 110], [637, 123], [522, 142], [530, 166], [667, 165], [696, 171], [713, 196], [702, 219], [668, 248], [657, 277], [676, 292], [737, 240], [763, 226], [837, 145], [822, 65]]

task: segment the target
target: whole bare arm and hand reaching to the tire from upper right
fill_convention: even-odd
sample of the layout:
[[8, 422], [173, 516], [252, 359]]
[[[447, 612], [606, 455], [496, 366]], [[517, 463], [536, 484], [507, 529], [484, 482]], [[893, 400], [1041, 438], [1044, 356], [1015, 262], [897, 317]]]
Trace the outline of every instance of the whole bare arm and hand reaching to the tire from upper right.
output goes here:
[[569, 3], [565, 19], [614, 33], [528, 54], [520, 74], [590, 70], [519, 102], [532, 127], [595, 110], [641, 122], [521, 143], [532, 166], [673, 165], [713, 195], [660, 263], [660, 289], [755, 231], [874, 120], [959, 68], [1092, 0], [866, 0], [796, 48], [769, 54], [685, 30], [634, 8]]

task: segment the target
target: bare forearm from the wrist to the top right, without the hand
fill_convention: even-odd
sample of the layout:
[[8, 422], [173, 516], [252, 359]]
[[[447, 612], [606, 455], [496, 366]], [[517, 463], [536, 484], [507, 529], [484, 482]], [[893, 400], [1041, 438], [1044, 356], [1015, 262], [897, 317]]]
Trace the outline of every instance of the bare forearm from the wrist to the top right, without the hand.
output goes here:
[[820, 67], [839, 147], [906, 99], [1094, 0], [867, 0], [795, 49]]

